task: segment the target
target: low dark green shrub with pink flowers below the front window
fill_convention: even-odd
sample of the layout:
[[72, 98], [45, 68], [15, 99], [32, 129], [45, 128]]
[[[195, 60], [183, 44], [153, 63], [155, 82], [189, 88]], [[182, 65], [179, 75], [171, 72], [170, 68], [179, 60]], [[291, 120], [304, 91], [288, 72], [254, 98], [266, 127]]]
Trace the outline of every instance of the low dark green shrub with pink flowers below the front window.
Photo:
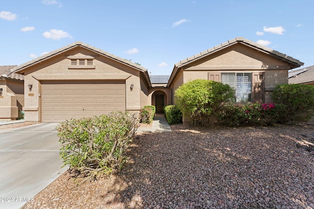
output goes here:
[[271, 125], [278, 121], [282, 105], [275, 103], [228, 104], [220, 115], [220, 121], [229, 126]]

